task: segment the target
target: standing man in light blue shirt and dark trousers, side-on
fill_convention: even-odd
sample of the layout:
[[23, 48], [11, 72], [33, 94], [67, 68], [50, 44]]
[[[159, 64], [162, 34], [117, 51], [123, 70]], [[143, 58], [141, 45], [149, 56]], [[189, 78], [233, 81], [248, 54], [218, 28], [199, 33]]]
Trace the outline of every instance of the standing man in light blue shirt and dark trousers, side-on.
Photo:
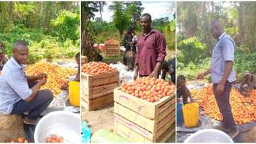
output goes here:
[[198, 79], [202, 79], [206, 74], [211, 75], [213, 93], [223, 116], [222, 124], [216, 128], [228, 133], [231, 138], [235, 138], [239, 131], [235, 126], [229, 101], [232, 84], [235, 81], [235, 72], [233, 70], [235, 42], [229, 35], [224, 33], [223, 27], [218, 22], [212, 23], [210, 33], [217, 39], [217, 43], [213, 48], [210, 70], [199, 74]]

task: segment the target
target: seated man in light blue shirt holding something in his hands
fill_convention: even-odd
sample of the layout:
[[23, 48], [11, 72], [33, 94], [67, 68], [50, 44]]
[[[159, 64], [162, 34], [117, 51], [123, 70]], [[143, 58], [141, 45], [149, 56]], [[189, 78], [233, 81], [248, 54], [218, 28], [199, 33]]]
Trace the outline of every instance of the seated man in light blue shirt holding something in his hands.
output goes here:
[[36, 125], [40, 114], [53, 100], [50, 90], [39, 90], [47, 82], [47, 74], [27, 76], [23, 65], [28, 58], [28, 44], [23, 40], [14, 43], [13, 55], [0, 75], [0, 113], [28, 112], [23, 123]]

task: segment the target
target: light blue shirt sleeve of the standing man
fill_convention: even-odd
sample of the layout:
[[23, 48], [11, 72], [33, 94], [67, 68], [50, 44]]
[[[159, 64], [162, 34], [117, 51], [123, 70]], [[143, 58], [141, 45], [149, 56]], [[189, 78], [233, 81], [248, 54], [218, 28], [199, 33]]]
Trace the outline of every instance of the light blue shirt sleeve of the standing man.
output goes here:
[[226, 39], [222, 45], [222, 48], [223, 48], [223, 57], [224, 57], [225, 62], [227, 62], [227, 61], [234, 62], [234, 59], [235, 59], [234, 43], [231, 40]]

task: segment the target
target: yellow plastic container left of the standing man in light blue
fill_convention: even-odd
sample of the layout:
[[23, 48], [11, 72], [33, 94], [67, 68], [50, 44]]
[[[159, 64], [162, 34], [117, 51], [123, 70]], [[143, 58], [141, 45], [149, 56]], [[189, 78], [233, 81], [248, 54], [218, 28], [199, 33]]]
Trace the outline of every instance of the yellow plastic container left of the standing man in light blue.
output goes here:
[[185, 104], [182, 108], [184, 125], [187, 128], [198, 126], [199, 104], [196, 102]]

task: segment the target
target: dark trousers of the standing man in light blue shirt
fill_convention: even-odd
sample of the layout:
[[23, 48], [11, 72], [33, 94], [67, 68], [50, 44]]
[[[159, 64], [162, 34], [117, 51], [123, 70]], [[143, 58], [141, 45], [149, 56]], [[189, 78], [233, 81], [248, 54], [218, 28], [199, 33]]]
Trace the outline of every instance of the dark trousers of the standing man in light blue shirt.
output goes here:
[[223, 126], [225, 128], [231, 129], [232, 131], [235, 131], [236, 126], [230, 106], [230, 92], [232, 88], [232, 83], [226, 82], [224, 92], [219, 96], [216, 96], [217, 86], [218, 84], [213, 84], [213, 93], [217, 101], [218, 108], [220, 109], [220, 113], [223, 116]]

